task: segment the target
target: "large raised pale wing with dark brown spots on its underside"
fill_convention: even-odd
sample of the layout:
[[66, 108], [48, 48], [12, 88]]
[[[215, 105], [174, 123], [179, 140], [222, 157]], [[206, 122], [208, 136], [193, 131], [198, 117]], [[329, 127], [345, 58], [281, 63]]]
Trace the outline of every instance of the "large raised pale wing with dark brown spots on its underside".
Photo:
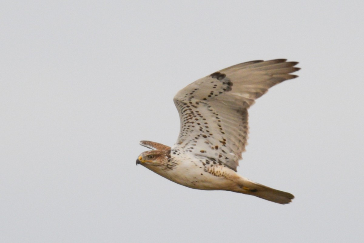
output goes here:
[[174, 97], [181, 130], [172, 150], [224, 164], [236, 171], [248, 139], [248, 111], [254, 100], [300, 68], [285, 59], [250, 61], [201, 78]]

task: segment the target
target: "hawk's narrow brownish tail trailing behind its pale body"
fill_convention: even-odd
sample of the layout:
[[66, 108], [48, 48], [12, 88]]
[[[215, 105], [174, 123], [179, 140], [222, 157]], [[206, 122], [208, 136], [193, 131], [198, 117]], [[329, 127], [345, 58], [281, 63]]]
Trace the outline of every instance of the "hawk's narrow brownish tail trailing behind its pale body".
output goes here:
[[253, 195], [271, 202], [286, 204], [292, 202], [294, 198], [290, 193], [261, 185], [244, 177], [241, 177], [239, 184], [241, 187], [241, 190], [238, 191], [239, 193]]

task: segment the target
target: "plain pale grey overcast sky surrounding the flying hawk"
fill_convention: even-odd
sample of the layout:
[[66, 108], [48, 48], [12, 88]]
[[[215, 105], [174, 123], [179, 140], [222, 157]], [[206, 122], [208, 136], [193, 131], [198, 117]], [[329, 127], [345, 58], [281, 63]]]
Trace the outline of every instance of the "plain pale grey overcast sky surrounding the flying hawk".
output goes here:
[[[1, 1], [1, 242], [361, 242], [363, 1]], [[300, 77], [250, 111], [238, 173], [280, 205], [177, 185], [173, 96], [251, 60]]]

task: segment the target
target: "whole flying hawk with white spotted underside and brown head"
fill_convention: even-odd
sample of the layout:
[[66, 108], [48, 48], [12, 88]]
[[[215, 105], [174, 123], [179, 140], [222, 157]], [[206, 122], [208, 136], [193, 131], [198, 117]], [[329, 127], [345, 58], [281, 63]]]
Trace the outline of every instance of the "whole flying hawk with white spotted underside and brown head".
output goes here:
[[201, 78], [174, 97], [181, 128], [172, 146], [151, 141], [141, 164], [173, 182], [194, 189], [226, 190], [286, 204], [294, 196], [237, 174], [248, 139], [248, 108], [268, 89], [300, 68], [286, 59], [250, 61]]

